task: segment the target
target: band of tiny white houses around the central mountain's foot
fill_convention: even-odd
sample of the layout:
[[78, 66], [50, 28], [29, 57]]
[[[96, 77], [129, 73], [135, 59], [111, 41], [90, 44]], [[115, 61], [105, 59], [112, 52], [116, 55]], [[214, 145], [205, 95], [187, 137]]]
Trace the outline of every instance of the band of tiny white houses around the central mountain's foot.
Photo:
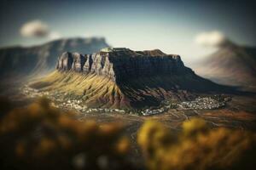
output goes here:
[[[74, 109], [76, 111], [80, 111], [83, 113], [93, 113], [93, 112], [125, 113], [125, 110], [121, 110], [121, 109], [88, 108], [86, 105], [83, 104], [83, 101], [81, 99], [64, 99], [60, 97], [61, 94], [56, 94], [56, 93], [49, 94], [48, 92], [39, 92], [38, 90], [29, 88], [27, 86], [25, 86], [22, 89], [22, 92], [23, 94], [26, 94], [26, 96], [30, 98], [47, 96], [49, 99], [55, 101], [54, 103], [55, 107], [66, 108], [67, 110]], [[226, 102], [227, 102], [226, 98], [219, 97], [217, 95], [208, 96], [208, 97], [198, 97], [195, 100], [183, 101], [176, 104], [173, 104], [173, 103], [171, 104], [167, 102], [165, 105], [160, 106], [160, 108], [145, 109], [143, 111], [139, 111], [139, 114], [143, 116], [156, 115], [174, 108], [181, 109], [181, 110], [190, 110], [190, 109], [212, 110], [212, 109], [218, 109], [220, 107], [223, 107], [226, 104]]]

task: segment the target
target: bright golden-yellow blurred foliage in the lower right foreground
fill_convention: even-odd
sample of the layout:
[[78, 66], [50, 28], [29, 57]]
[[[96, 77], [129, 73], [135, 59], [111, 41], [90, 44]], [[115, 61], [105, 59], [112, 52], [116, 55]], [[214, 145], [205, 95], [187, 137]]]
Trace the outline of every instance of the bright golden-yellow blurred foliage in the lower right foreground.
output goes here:
[[255, 166], [255, 133], [224, 127], [210, 129], [198, 118], [183, 122], [182, 127], [177, 134], [153, 121], [140, 128], [137, 142], [149, 169], [253, 169]]

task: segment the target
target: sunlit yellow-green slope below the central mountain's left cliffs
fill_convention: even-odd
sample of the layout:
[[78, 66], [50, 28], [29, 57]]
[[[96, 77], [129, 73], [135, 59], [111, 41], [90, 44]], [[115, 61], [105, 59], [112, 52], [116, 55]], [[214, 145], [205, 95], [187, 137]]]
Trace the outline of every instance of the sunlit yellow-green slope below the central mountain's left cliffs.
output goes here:
[[30, 86], [49, 93], [61, 93], [68, 99], [82, 99], [84, 105], [92, 107], [129, 107], [117, 84], [96, 74], [54, 71]]

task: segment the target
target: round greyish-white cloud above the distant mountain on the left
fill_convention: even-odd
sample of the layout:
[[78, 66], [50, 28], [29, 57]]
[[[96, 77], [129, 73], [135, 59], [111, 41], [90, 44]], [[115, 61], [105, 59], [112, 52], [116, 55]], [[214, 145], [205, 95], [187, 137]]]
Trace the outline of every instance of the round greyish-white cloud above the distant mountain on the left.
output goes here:
[[41, 20], [32, 20], [21, 26], [20, 34], [23, 37], [47, 37], [49, 28]]

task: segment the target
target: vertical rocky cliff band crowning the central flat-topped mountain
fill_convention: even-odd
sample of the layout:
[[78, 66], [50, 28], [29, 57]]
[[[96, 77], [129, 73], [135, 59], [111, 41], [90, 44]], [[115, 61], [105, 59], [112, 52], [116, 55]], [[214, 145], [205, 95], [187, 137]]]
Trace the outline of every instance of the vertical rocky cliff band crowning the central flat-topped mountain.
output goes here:
[[124, 82], [131, 78], [194, 74], [183, 65], [179, 55], [160, 50], [132, 51], [130, 49], [100, 51], [96, 54], [61, 54], [56, 65], [59, 71], [96, 73]]

